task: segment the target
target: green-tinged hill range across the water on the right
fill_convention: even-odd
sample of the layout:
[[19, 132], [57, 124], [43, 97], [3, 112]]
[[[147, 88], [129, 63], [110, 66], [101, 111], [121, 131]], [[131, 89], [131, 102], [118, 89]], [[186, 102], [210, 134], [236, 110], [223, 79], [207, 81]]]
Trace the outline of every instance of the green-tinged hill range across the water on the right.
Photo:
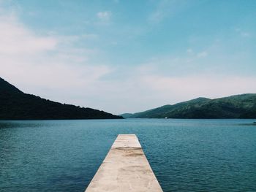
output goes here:
[[256, 118], [256, 94], [219, 99], [200, 97], [144, 112], [124, 113], [121, 116], [124, 118]]

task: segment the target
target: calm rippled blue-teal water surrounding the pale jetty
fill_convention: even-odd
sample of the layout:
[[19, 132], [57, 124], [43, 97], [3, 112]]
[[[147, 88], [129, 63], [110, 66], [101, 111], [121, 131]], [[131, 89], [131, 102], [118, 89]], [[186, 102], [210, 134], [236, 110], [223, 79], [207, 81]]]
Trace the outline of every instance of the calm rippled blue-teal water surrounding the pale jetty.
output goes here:
[[0, 191], [84, 191], [117, 134], [129, 133], [164, 191], [256, 191], [252, 121], [0, 121]]

